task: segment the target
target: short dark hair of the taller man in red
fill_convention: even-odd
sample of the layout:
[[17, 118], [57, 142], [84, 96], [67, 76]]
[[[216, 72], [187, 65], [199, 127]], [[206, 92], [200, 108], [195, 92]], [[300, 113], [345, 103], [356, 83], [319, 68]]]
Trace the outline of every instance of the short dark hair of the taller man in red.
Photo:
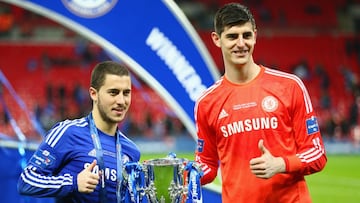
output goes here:
[[254, 16], [246, 6], [239, 3], [229, 3], [225, 4], [216, 12], [214, 28], [215, 32], [221, 35], [225, 27], [242, 25], [247, 22], [251, 22], [253, 29], [256, 29]]

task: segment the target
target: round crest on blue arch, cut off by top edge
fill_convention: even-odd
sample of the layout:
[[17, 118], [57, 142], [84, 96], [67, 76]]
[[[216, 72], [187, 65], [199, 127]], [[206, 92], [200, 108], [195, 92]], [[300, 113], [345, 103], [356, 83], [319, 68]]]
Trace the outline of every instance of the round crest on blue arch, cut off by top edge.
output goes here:
[[62, 0], [73, 14], [84, 18], [96, 18], [109, 12], [117, 0]]

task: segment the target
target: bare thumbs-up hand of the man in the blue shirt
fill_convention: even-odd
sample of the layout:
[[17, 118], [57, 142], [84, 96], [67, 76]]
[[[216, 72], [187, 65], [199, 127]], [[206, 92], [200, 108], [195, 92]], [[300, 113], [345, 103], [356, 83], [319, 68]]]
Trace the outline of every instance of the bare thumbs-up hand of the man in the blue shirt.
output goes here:
[[99, 174], [92, 173], [92, 170], [96, 166], [96, 160], [94, 160], [89, 167], [82, 170], [77, 176], [78, 191], [81, 193], [94, 192], [96, 185], [99, 184]]

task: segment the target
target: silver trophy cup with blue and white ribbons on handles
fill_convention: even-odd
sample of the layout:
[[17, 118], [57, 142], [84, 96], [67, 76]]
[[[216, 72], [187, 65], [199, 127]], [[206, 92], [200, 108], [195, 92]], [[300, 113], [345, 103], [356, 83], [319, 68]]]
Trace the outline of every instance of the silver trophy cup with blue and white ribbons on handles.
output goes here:
[[169, 155], [142, 164], [129, 162], [123, 172], [125, 202], [201, 203], [200, 165]]

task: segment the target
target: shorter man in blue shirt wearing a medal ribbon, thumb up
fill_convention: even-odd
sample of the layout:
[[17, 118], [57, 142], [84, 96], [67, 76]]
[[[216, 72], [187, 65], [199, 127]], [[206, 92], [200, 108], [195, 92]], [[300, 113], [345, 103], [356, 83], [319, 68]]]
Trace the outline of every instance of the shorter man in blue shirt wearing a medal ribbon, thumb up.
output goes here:
[[120, 202], [122, 165], [140, 151], [118, 129], [131, 103], [131, 79], [122, 65], [105, 61], [91, 74], [93, 108], [83, 118], [55, 124], [18, 181], [22, 195], [62, 202]]

